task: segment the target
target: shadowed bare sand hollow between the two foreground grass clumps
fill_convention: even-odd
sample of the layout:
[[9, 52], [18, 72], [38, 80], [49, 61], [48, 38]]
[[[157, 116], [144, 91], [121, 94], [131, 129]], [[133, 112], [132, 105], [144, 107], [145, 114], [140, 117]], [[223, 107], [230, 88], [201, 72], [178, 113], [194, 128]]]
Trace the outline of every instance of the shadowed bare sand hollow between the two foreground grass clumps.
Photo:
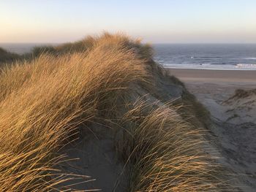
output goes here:
[[81, 137], [61, 151], [73, 161], [66, 161], [57, 168], [88, 177], [61, 183], [59, 188], [74, 185], [72, 188], [77, 191], [126, 191], [126, 166], [116, 151], [113, 132], [98, 124], [86, 129], [83, 127]]

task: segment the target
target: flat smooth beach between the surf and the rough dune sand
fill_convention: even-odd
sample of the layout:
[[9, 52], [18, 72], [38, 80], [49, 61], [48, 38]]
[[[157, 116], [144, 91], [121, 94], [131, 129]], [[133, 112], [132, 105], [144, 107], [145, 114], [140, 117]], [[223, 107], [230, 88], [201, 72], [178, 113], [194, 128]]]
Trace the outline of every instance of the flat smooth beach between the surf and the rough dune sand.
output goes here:
[[[256, 88], [256, 70], [167, 69], [185, 83], [200, 102], [208, 99], [221, 102], [237, 89]], [[207, 105], [207, 104], [206, 104]]]

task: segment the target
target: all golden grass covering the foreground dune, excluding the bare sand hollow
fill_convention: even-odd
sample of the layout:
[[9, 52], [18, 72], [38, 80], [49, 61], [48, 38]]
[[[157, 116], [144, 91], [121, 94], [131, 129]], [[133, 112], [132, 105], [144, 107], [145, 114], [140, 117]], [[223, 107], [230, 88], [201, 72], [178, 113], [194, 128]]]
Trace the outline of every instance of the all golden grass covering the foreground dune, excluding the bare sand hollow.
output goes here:
[[131, 191], [224, 188], [202, 129], [189, 126], [176, 108], [133, 99], [141, 87], [156, 93], [152, 77], [162, 75], [148, 45], [120, 34], [78, 45], [2, 69], [0, 191], [49, 191], [78, 177], [55, 169], [68, 160], [59, 150], [91, 122], [124, 131], [117, 146], [129, 165]]

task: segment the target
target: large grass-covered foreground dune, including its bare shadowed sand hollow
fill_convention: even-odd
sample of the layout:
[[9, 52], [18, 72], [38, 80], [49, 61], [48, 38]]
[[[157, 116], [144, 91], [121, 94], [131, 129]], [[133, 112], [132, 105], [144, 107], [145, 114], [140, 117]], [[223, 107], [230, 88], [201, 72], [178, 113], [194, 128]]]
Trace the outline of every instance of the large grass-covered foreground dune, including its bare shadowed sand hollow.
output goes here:
[[5, 66], [0, 191], [238, 190], [208, 110], [152, 54], [103, 34]]

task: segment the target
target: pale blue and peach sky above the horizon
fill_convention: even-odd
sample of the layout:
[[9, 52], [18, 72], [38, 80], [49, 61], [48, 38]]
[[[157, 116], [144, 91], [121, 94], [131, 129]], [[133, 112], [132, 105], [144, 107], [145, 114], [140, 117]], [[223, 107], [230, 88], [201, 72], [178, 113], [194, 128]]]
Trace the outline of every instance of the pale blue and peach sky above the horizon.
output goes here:
[[150, 43], [256, 43], [256, 0], [1, 0], [0, 42], [72, 42], [103, 31]]

